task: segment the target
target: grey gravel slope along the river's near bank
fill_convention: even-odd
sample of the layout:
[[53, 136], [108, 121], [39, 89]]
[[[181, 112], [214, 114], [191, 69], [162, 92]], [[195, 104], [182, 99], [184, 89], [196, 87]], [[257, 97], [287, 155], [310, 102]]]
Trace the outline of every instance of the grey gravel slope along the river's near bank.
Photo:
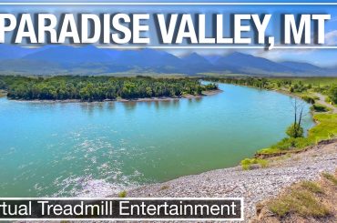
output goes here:
[[273, 157], [268, 167], [242, 170], [231, 167], [205, 172], [128, 191], [128, 197], [215, 197], [244, 198], [245, 221], [256, 213], [256, 204], [280, 193], [282, 188], [303, 179], [317, 179], [337, 167], [337, 140], [300, 154]]

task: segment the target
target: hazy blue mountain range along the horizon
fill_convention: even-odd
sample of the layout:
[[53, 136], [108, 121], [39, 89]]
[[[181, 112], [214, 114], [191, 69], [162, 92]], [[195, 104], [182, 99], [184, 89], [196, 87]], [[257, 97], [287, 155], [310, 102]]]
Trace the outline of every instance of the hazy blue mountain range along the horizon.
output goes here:
[[115, 50], [96, 46], [43, 46], [25, 48], [0, 45], [0, 74], [107, 75], [114, 73], [243, 74], [260, 76], [337, 76], [337, 67], [308, 63], [274, 62], [234, 52], [223, 56], [191, 53], [174, 56], [153, 49]]

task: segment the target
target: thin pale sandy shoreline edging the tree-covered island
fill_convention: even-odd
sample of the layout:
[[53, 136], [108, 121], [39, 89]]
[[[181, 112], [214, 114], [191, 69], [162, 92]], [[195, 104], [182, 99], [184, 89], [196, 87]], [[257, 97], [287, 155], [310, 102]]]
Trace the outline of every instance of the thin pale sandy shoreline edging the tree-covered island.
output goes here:
[[201, 98], [204, 96], [214, 96], [223, 92], [222, 90], [210, 90], [210, 91], [203, 91], [202, 95], [194, 96], [194, 95], [185, 95], [185, 96], [177, 96], [177, 97], [170, 97], [170, 96], [162, 96], [162, 97], [144, 97], [144, 98], [133, 98], [133, 99], [125, 99], [125, 98], [118, 98], [113, 100], [103, 100], [103, 101], [83, 101], [79, 99], [66, 99], [66, 100], [23, 100], [23, 99], [10, 99], [8, 100], [15, 101], [15, 102], [29, 102], [29, 103], [102, 103], [102, 102], [153, 102], [153, 101], [171, 101], [171, 100], [179, 100], [183, 98], [193, 99], [193, 98]]

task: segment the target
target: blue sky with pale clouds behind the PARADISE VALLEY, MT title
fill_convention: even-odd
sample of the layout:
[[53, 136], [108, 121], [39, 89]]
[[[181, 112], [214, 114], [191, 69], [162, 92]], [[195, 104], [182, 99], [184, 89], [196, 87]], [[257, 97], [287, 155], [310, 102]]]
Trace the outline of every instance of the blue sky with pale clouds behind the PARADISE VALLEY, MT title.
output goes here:
[[[2, 1], [6, 2], [6, 1]], [[12, 0], [7, 2], [33, 2], [28, 0]], [[87, 1], [87, 0], [35, 0], [34, 2], [142, 2], [142, 1], [130, 1], [130, 0], [120, 0], [120, 1], [107, 1], [107, 0], [97, 0], [97, 1]], [[156, 2], [154, 0], [148, 0], [143, 2]], [[164, 1], [160, 1], [164, 2]], [[169, 0], [165, 2], [181, 2], [178, 0]], [[186, 1], [185, 2], [207, 2], [205, 1]], [[209, 2], [226, 2], [220, 0], [212, 0]], [[227, 2], [319, 2], [307, 0], [307, 1], [290, 1], [290, 0], [282, 0], [282, 1], [267, 1], [267, 0], [259, 0], [259, 1], [227, 1]], [[334, 2], [332, 0], [326, 0], [324, 2]], [[267, 35], [275, 35], [279, 36], [281, 30], [281, 21], [280, 17], [282, 14], [330, 14], [332, 15], [332, 19], [325, 24], [325, 42], [329, 46], [337, 46], [337, 5], [160, 5], [160, 6], [149, 6], [149, 5], [105, 5], [105, 6], [95, 6], [95, 5], [77, 5], [77, 6], [60, 6], [60, 5], [48, 5], [48, 6], [39, 6], [39, 5], [31, 5], [31, 6], [22, 6], [22, 5], [1, 5], [0, 10], [2, 13], [189, 13], [189, 14], [198, 14], [204, 13], [207, 15], [207, 32], [211, 33], [211, 15], [212, 14], [223, 14], [230, 17], [230, 14], [272, 14], [271, 24], [267, 30]], [[226, 20], [225, 20], [226, 21]], [[230, 22], [225, 25], [225, 33], [230, 30]], [[150, 36], [157, 35], [154, 31], [149, 33]], [[250, 34], [251, 35], [251, 34]], [[152, 38], [151, 38], [152, 39]], [[276, 42], [279, 40], [277, 39]], [[156, 45], [157, 43], [151, 43]], [[184, 50], [167, 50], [169, 53], [172, 53], [177, 56], [189, 54], [191, 52], [197, 52], [202, 55], [225, 55], [229, 54], [232, 51], [240, 51], [242, 53], [252, 54], [254, 56], [261, 56], [271, 59], [273, 61], [300, 61], [300, 62], [309, 62], [313, 65], [317, 66], [337, 66], [337, 49], [274, 49], [271, 51], [266, 51], [263, 49], [257, 50], [225, 50], [225, 49], [184, 49]]]

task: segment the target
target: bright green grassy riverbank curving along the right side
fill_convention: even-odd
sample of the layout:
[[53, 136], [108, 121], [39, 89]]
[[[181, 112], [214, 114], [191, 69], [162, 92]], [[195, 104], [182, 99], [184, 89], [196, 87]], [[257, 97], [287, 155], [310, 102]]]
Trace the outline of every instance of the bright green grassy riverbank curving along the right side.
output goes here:
[[[278, 143], [271, 145], [271, 147], [259, 149], [255, 154], [255, 158], [246, 158], [245, 160], [242, 160], [242, 162], [256, 163], [257, 161], [260, 161], [256, 158], [263, 159], [266, 157], [278, 157], [287, 153], [298, 153], [301, 152], [301, 150], [306, 149], [306, 147], [316, 145], [321, 140], [337, 137], [337, 107], [332, 105], [332, 102], [328, 103], [328, 100], [331, 101], [329, 96], [319, 93], [324, 91], [324, 89], [324, 92], [326, 93], [326, 88], [332, 86], [326, 86], [326, 84], [321, 86], [320, 83], [311, 83], [308, 79], [301, 79], [298, 83], [291, 83], [291, 79], [278, 80], [271, 78], [250, 78], [249, 81], [247, 79], [229, 78], [220, 79], [219, 81], [221, 82], [221, 80], [225, 83], [234, 83], [238, 86], [250, 86], [253, 88], [275, 91], [311, 104], [311, 116], [316, 125], [308, 130], [306, 137], [283, 138]], [[302, 81], [304, 83], [302, 83]], [[313, 87], [313, 84], [317, 84], [318, 86]]]

